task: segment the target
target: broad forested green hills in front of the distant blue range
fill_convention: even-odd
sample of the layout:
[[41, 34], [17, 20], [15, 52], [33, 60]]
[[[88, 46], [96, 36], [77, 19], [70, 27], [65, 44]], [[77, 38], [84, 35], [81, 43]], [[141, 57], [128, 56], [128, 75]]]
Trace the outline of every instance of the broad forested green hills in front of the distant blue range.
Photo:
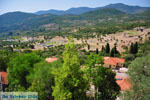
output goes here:
[[[136, 22], [138, 22], [139, 25], [144, 25], [145, 23], [147, 26], [147, 23], [150, 21], [149, 12], [150, 11], [139, 14], [127, 14], [112, 8], [101, 8], [81, 15], [35, 15], [23, 12], [12, 12], [0, 16], [0, 35], [1, 37], [5, 37], [8, 36], [10, 32], [13, 32], [15, 35], [17, 33], [23, 34], [26, 32], [30, 32], [31, 34], [50, 31], [59, 32], [60, 30], [68, 34], [68, 32], [72, 32], [74, 29], [79, 30], [88, 27], [94, 29], [97, 25], [101, 25], [102, 27], [106, 25], [107, 27], [110, 26], [114, 28], [120, 26], [134, 28]], [[139, 20], [143, 20], [144, 23], [139, 22]], [[93, 31], [90, 30], [89, 32]]]

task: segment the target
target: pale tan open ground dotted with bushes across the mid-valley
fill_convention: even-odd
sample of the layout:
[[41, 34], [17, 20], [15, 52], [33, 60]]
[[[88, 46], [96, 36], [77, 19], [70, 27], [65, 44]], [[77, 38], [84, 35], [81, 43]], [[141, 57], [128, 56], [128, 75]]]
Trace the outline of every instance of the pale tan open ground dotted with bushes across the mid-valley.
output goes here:
[[[114, 44], [117, 44], [117, 49], [119, 52], [124, 52], [124, 48], [129, 48], [131, 43], [140, 42], [143, 43], [145, 40], [150, 39], [149, 28], [137, 27], [133, 30], [127, 30], [124, 32], [110, 34], [110, 35], [101, 35], [96, 38], [89, 39], [76, 39], [74, 38], [75, 44], [86, 44], [83, 48], [88, 50], [87, 44], [90, 45], [90, 50], [94, 51], [96, 48], [99, 50], [102, 49], [102, 46], [105, 46], [106, 43], [110, 44], [110, 47], [113, 48]], [[52, 39], [44, 39], [44, 36], [39, 37], [20, 37], [19, 39], [6, 39], [3, 41], [20, 41], [20, 42], [30, 42], [35, 41], [32, 45], [34, 48], [31, 50], [43, 50], [44, 48], [55, 47], [59, 45], [64, 45], [67, 43], [68, 39], [65, 37], [56, 36]], [[37, 42], [36, 42], [37, 41]], [[15, 48], [14, 48], [15, 50]], [[16, 49], [17, 50], [17, 49]]]

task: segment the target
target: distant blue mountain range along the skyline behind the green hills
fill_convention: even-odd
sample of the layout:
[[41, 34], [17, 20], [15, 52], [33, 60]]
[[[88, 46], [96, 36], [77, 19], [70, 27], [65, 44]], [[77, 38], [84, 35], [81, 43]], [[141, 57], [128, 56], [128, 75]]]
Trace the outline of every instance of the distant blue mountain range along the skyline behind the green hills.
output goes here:
[[140, 6], [129, 6], [122, 3], [116, 3], [116, 4], [110, 4], [104, 7], [97, 7], [97, 8], [89, 8], [89, 7], [79, 7], [79, 8], [71, 8], [68, 10], [47, 10], [47, 11], [38, 11], [35, 14], [41, 15], [41, 14], [55, 14], [55, 15], [64, 15], [64, 14], [74, 14], [74, 15], [80, 15], [89, 11], [95, 11], [97, 9], [101, 8], [114, 8], [120, 11], [123, 11], [125, 13], [129, 14], [135, 14], [144, 12], [146, 10], [150, 10], [150, 7], [140, 7]]

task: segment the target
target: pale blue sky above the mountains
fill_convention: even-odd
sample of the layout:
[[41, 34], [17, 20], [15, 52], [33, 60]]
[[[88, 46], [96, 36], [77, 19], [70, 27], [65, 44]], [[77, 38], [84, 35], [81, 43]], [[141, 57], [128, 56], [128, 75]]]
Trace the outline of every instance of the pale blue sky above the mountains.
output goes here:
[[72, 7], [102, 7], [113, 3], [150, 7], [150, 0], [0, 0], [0, 14], [13, 11], [66, 10]]

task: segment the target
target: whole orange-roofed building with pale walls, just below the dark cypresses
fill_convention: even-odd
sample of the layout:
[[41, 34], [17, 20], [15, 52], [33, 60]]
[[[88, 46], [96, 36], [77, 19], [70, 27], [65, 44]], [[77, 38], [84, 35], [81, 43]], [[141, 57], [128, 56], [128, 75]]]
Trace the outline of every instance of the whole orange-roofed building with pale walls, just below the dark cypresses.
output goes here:
[[123, 67], [125, 60], [117, 57], [104, 57], [104, 67], [107, 68], [120, 68]]

